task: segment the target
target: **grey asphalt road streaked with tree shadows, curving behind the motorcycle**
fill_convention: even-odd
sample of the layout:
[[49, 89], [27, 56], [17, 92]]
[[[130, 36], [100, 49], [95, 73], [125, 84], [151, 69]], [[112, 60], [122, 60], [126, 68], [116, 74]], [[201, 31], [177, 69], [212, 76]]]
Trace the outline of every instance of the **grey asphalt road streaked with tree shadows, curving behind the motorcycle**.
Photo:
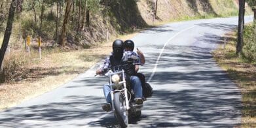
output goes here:
[[[141, 119], [129, 126], [239, 125], [240, 90], [211, 56], [237, 22], [238, 18], [177, 22], [133, 37], [146, 57], [140, 72], [155, 91], [145, 101]], [[0, 127], [119, 127], [112, 113], [101, 110], [107, 80], [94, 77], [97, 65], [60, 88], [0, 112]]]

